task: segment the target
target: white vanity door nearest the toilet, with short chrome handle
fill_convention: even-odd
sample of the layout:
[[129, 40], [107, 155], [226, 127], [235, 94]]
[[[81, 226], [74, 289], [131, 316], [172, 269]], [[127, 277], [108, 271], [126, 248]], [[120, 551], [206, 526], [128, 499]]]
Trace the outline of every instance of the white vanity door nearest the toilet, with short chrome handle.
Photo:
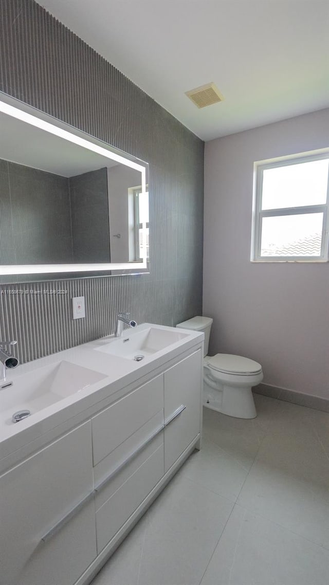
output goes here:
[[201, 349], [165, 371], [165, 473], [200, 433]]

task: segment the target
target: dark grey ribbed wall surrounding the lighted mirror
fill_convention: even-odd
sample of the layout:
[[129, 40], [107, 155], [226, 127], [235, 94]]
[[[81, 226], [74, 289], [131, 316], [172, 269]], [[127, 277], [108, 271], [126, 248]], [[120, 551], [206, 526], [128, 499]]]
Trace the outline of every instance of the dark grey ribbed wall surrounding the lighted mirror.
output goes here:
[[1, 286], [0, 339], [28, 362], [112, 333], [120, 310], [164, 325], [200, 314], [203, 142], [33, 0], [0, 10], [0, 90], [148, 161], [151, 246], [150, 274]]

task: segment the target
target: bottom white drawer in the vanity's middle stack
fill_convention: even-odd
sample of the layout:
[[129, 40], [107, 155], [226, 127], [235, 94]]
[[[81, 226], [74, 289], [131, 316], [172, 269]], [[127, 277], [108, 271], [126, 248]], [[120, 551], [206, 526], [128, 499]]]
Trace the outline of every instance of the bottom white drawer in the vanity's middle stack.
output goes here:
[[[162, 434], [162, 433], [161, 433]], [[153, 487], [163, 477], [163, 438], [159, 436], [151, 443], [153, 453], [115, 490], [111, 486], [111, 497], [96, 512], [97, 553], [111, 541]], [[160, 445], [156, 444], [160, 442]], [[119, 478], [118, 478], [119, 479]]]

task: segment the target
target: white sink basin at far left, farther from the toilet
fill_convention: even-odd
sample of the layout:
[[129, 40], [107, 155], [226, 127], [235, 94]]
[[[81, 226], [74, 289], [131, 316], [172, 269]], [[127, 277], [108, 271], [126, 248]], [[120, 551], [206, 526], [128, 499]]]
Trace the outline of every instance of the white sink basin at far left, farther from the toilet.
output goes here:
[[65, 360], [17, 376], [12, 386], [0, 391], [0, 424], [19, 425], [12, 422], [15, 412], [27, 409], [34, 414], [103, 378], [104, 374]]

